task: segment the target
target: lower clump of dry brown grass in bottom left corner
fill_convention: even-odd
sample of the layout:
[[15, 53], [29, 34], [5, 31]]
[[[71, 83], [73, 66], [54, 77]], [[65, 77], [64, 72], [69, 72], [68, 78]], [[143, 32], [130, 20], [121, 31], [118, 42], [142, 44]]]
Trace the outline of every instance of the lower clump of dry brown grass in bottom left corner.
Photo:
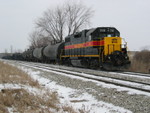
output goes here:
[[[45, 95], [49, 98], [45, 98]], [[19, 113], [24, 113], [29, 111], [40, 112], [47, 111], [50, 112], [49, 108], [59, 110], [57, 107], [58, 99], [55, 93], [46, 93], [43, 96], [34, 95], [27, 92], [24, 89], [4, 89], [0, 92], [0, 111], [7, 111], [7, 107], [15, 108], [15, 111]], [[52, 96], [53, 95], [53, 96]]]

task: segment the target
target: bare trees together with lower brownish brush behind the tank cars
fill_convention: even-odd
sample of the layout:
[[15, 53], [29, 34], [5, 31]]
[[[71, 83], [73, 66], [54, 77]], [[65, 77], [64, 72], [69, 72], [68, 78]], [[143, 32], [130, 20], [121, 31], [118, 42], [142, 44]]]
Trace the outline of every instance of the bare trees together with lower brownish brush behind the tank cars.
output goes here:
[[30, 49], [60, 43], [65, 36], [74, 34], [90, 25], [93, 10], [82, 3], [67, 2], [47, 9], [35, 22], [29, 34]]

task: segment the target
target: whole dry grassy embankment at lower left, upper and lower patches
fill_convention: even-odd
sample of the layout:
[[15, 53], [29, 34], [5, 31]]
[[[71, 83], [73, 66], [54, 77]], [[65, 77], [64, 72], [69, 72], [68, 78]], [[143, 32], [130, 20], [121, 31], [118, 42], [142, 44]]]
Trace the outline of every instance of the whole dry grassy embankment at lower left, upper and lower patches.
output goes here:
[[[0, 85], [8, 84], [43, 90], [39, 83], [25, 72], [0, 61]], [[0, 89], [0, 113], [8, 113], [8, 108], [19, 113], [54, 113], [57, 111], [76, 113], [72, 107], [60, 105], [56, 92], [45, 90], [41, 95], [23, 87]]]

